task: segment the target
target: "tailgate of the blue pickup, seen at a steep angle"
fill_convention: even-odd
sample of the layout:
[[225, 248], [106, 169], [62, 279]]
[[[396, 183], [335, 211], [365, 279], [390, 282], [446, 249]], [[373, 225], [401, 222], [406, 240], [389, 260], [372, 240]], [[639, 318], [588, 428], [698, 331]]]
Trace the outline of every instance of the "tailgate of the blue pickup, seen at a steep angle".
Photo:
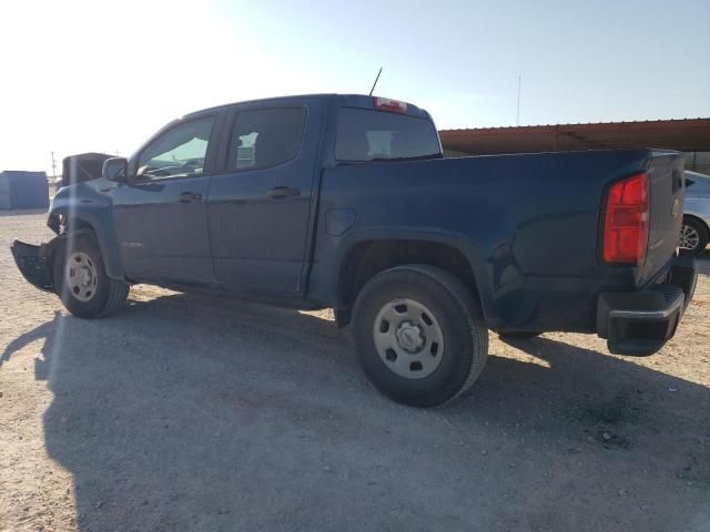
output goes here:
[[653, 152], [648, 168], [650, 214], [648, 252], [641, 284], [652, 280], [673, 257], [683, 218], [683, 155]]

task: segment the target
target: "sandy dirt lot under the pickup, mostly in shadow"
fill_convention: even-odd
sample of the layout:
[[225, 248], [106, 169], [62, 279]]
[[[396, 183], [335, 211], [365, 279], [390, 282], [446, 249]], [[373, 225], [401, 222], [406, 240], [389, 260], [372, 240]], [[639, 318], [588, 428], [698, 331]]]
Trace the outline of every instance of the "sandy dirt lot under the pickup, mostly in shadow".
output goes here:
[[0, 529], [710, 531], [710, 256], [657, 356], [504, 344], [473, 392], [378, 396], [347, 331], [146, 286], [103, 320], [24, 283], [0, 216]]

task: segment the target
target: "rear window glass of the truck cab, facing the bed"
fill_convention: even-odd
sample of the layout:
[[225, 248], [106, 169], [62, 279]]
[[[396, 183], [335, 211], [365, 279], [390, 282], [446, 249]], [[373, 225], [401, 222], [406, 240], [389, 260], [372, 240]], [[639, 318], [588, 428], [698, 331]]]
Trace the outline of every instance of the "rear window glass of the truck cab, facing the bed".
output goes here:
[[338, 113], [335, 158], [397, 161], [440, 156], [434, 124], [405, 114], [342, 109]]

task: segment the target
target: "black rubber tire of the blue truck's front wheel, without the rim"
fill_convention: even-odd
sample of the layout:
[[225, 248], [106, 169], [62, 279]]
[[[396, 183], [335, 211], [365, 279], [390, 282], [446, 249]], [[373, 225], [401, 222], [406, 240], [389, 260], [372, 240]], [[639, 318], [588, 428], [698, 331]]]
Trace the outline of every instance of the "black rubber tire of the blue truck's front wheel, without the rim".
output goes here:
[[[79, 299], [70, 289], [65, 275], [67, 263], [75, 254], [83, 254], [92, 273], [95, 272], [95, 283], [92, 282], [93, 289], [87, 293], [85, 300]], [[128, 283], [106, 276], [99, 245], [89, 233], [67, 236], [63, 245], [54, 255], [53, 275], [54, 289], [64, 307], [79, 318], [102, 318], [119, 311], [123, 308], [130, 290]]]

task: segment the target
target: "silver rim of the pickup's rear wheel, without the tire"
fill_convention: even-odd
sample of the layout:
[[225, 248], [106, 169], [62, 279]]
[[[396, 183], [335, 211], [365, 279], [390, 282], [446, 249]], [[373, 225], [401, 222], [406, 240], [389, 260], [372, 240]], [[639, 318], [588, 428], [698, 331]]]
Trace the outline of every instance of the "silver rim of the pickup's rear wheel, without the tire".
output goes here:
[[375, 318], [373, 339], [381, 360], [399, 377], [423, 379], [442, 364], [442, 327], [434, 313], [414, 299], [386, 303]]

